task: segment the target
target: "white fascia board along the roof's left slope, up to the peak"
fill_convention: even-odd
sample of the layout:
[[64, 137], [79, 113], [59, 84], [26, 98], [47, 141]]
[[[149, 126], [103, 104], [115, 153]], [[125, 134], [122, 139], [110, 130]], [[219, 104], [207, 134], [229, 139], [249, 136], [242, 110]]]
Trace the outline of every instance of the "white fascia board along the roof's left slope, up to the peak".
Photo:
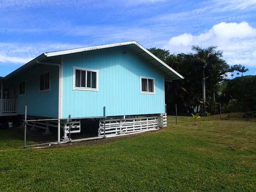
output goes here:
[[138, 43], [136, 41], [127, 41], [127, 42], [121, 42], [121, 43], [113, 43], [113, 44], [98, 45], [98, 46], [91, 46], [91, 47], [84, 47], [84, 48], [77, 48], [77, 49], [47, 52], [44, 54], [47, 57], [52, 57], [52, 56], [66, 55], [66, 54], [71, 54], [71, 53], [78, 53], [78, 52], [91, 51], [91, 50], [96, 50], [96, 49], [124, 46], [124, 45], [130, 45], [130, 44], [138, 45]]

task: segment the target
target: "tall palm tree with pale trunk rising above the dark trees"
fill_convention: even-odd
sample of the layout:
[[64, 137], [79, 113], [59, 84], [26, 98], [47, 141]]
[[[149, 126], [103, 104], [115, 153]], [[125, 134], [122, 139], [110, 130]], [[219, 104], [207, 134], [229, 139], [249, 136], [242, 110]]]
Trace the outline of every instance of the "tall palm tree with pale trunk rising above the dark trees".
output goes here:
[[193, 45], [192, 50], [196, 52], [196, 60], [202, 67], [202, 97], [203, 97], [203, 106], [204, 110], [206, 110], [205, 102], [206, 102], [206, 96], [205, 96], [205, 68], [208, 65], [208, 63], [216, 58], [222, 57], [222, 51], [218, 50], [216, 52], [217, 46], [210, 46], [208, 48], [203, 49], [202, 47], [198, 45]]

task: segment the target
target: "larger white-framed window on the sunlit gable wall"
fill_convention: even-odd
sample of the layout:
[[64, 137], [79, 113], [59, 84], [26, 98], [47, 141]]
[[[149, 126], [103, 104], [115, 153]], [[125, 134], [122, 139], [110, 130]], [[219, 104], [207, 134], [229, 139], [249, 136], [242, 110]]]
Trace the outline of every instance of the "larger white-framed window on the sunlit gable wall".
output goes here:
[[73, 67], [73, 90], [98, 91], [99, 70]]

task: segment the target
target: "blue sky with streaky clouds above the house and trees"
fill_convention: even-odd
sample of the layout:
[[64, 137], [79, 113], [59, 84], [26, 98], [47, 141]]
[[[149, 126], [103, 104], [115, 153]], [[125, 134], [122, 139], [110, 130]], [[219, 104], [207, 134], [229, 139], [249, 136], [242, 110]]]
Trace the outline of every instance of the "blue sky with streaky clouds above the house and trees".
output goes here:
[[188, 53], [218, 46], [256, 75], [256, 0], [0, 0], [0, 76], [44, 52], [136, 40]]

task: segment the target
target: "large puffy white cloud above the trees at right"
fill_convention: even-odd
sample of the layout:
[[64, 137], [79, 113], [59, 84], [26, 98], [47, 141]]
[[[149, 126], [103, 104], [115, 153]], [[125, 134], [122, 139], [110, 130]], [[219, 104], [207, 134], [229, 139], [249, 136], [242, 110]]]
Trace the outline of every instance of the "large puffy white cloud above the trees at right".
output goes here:
[[184, 33], [170, 38], [163, 48], [175, 54], [188, 53], [192, 45], [218, 46], [228, 64], [256, 67], [256, 29], [248, 22], [221, 22], [199, 35]]

